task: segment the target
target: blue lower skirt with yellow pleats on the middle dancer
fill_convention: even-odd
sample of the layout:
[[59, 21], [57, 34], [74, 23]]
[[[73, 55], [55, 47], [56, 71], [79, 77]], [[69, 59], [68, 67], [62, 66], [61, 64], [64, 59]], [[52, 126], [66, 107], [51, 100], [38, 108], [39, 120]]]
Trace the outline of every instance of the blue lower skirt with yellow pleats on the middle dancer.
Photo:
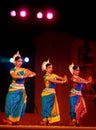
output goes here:
[[42, 117], [43, 119], [48, 117], [49, 123], [60, 121], [60, 113], [55, 93], [48, 94], [44, 91], [42, 93]]

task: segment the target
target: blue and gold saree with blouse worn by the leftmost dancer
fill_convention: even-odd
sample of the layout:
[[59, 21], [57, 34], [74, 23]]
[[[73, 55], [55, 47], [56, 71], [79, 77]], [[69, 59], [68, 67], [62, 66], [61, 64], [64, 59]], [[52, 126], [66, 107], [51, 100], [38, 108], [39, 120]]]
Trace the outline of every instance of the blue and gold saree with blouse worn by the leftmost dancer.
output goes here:
[[[11, 69], [18, 75], [24, 75], [24, 68]], [[12, 79], [8, 88], [5, 102], [5, 116], [11, 122], [18, 122], [26, 110], [27, 95], [24, 86], [24, 79]]]

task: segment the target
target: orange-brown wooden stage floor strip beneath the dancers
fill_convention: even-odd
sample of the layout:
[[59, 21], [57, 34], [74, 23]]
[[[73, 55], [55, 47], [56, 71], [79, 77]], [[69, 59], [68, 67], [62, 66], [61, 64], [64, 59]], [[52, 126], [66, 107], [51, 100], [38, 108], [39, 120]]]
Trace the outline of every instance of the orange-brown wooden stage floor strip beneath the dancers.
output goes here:
[[40, 125], [0, 125], [0, 130], [96, 130], [96, 127], [40, 126]]

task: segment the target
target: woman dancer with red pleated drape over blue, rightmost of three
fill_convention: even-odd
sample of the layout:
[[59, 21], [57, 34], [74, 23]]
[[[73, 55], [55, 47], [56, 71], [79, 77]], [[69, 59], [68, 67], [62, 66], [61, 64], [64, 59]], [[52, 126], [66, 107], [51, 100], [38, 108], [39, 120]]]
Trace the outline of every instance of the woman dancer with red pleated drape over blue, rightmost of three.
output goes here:
[[89, 84], [92, 82], [92, 77], [89, 76], [88, 79], [81, 78], [80, 67], [74, 65], [73, 63], [69, 66], [69, 70], [72, 74], [71, 77], [71, 90], [69, 94], [69, 102], [70, 102], [70, 117], [71, 123], [70, 125], [79, 126], [80, 118], [87, 113], [85, 100], [82, 95], [82, 87], [83, 84]]

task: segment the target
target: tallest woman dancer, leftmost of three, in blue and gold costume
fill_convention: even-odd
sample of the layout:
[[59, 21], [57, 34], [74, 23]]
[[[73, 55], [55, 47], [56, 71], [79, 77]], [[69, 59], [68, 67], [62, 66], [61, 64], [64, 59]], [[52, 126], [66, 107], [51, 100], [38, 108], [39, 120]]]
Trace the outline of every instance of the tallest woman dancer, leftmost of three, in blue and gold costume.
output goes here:
[[5, 116], [3, 123], [17, 124], [25, 113], [27, 95], [25, 90], [25, 78], [32, 78], [36, 73], [21, 67], [23, 60], [19, 51], [13, 56], [14, 68], [10, 70], [12, 83], [9, 85], [5, 102]]

